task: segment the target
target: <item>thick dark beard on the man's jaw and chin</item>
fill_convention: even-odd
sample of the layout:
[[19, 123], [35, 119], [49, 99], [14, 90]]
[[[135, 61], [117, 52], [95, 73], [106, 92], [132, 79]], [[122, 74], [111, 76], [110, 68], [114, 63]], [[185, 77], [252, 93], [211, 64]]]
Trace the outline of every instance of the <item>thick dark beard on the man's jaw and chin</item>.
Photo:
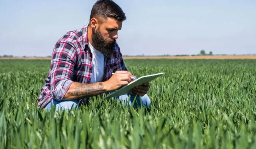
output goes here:
[[92, 31], [92, 44], [95, 49], [100, 51], [104, 57], [110, 58], [113, 51], [114, 51], [114, 45], [116, 40], [112, 39], [112, 43], [108, 43], [108, 41], [105, 41], [102, 35], [100, 34], [99, 29], [96, 31]]

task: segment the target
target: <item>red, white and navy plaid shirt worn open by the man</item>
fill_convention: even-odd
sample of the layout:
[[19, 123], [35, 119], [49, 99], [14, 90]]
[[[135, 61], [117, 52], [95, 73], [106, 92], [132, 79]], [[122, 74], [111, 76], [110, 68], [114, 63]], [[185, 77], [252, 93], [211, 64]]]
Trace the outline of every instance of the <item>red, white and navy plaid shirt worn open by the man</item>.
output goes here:
[[[38, 99], [39, 108], [45, 107], [51, 100], [61, 101], [72, 82], [90, 83], [94, 68], [87, 27], [88, 24], [81, 29], [69, 31], [54, 46], [50, 72]], [[104, 58], [103, 81], [108, 80], [115, 71], [128, 71], [117, 43], [114, 49], [110, 58]]]

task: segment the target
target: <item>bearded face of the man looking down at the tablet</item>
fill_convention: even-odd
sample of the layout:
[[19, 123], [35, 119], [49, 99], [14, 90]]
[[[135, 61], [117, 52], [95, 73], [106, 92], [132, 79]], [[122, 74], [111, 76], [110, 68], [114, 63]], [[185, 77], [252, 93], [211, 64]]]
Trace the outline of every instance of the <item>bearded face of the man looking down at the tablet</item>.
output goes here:
[[102, 23], [92, 30], [92, 45], [105, 57], [110, 57], [114, 51], [114, 44], [118, 38], [118, 30], [122, 22], [112, 18], [103, 19]]

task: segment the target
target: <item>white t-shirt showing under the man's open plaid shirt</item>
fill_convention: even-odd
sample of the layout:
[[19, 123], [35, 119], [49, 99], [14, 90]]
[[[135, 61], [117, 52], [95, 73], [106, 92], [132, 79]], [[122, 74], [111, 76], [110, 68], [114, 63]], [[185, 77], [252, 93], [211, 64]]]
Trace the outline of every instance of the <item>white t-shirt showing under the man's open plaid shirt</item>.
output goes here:
[[104, 55], [96, 50], [89, 42], [92, 52], [92, 78], [91, 83], [101, 82], [104, 74]]

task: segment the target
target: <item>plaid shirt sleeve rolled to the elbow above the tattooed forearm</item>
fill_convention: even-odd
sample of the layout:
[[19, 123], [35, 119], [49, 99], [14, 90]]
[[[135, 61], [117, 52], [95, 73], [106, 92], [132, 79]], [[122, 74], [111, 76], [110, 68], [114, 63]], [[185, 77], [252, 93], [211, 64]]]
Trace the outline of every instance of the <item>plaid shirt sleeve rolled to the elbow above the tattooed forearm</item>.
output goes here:
[[54, 100], [61, 101], [72, 84], [76, 49], [69, 43], [56, 43], [51, 61], [51, 94]]

